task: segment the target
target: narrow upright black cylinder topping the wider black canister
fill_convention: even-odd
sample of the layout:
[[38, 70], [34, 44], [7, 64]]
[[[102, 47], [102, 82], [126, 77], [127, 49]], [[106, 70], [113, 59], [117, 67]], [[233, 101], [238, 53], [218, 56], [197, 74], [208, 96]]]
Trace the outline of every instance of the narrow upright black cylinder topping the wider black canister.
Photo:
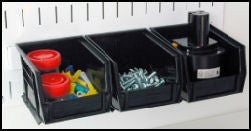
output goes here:
[[209, 40], [209, 13], [205, 11], [189, 12], [188, 23], [191, 33], [189, 43], [194, 48], [201, 48], [208, 45]]

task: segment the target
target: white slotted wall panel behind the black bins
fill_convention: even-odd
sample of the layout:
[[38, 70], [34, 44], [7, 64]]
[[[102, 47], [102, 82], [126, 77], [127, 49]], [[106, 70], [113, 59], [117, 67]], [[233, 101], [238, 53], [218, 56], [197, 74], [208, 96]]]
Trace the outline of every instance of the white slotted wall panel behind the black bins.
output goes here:
[[[135, 2], [136, 3], [136, 2]], [[168, 2], [163, 2], [168, 6]], [[75, 3], [73, 3], [74, 5]], [[99, 6], [100, 3], [91, 3], [91, 4], [97, 4]], [[109, 6], [114, 6], [114, 3], [105, 3], [110, 4]], [[28, 111], [28, 109], [23, 105], [20, 95], [22, 90], [19, 90], [22, 87], [22, 83], [18, 83], [18, 80], [22, 79], [22, 74], [19, 71], [19, 59], [18, 57], [14, 56], [12, 54], [12, 51], [15, 52], [15, 49], [12, 48], [13, 44], [17, 41], [27, 41], [27, 40], [37, 40], [37, 39], [48, 39], [48, 38], [55, 38], [55, 37], [61, 37], [61, 36], [68, 36], [68, 35], [78, 35], [78, 34], [85, 34], [85, 33], [96, 33], [96, 32], [106, 32], [106, 31], [112, 31], [112, 30], [121, 30], [121, 29], [131, 29], [131, 28], [139, 28], [139, 27], [149, 27], [149, 26], [157, 26], [157, 25], [166, 25], [166, 24], [176, 24], [176, 23], [184, 23], [186, 22], [186, 11], [184, 11], [183, 7], [188, 8], [188, 10], [191, 8], [191, 10], [197, 10], [197, 3], [189, 3], [190, 6], [186, 7], [186, 4], [180, 3], [180, 7], [182, 7], [181, 10], [177, 10], [177, 14], [174, 13], [168, 13], [168, 9], [170, 8], [163, 8], [162, 7], [162, 13], [166, 11], [166, 13], [159, 14], [158, 13], [158, 2], [151, 3], [148, 5], [148, 14], [147, 17], [142, 17], [142, 14], [145, 13], [144, 10], [139, 10], [138, 14], [137, 11], [134, 12], [133, 18], [130, 16], [130, 13], [128, 14], [128, 8], [130, 7], [129, 3], [123, 3], [124, 6], [121, 7], [121, 13], [119, 13], [119, 16], [124, 16], [121, 19], [116, 19], [116, 13], [114, 13], [113, 9], [109, 8], [107, 12], [110, 12], [111, 15], [105, 15], [106, 17], [111, 17], [111, 19], [107, 21], [103, 21], [102, 23], [102, 17], [91, 17], [91, 19], [94, 19], [95, 21], [92, 21], [90, 23], [87, 22], [87, 24], [84, 24], [81, 26], [81, 29], [76, 28], [80, 26], [81, 23], [74, 23], [73, 25], [68, 24], [69, 26], [66, 27], [66, 29], [61, 30], [54, 30], [53, 28], [56, 28], [52, 26], [54, 23], [50, 23], [51, 21], [47, 21], [48, 24], [45, 26], [44, 21], [42, 21], [42, 26], [38, 26], [37, 22], [34, 24], [32, 21], [31, 23], [25, 24], [25, 27], [23, 28], [22, 22], [18, 22], [18, 18], [20, 18], [20, 12], [17, 13], [18, 17], [14, 17], [16, 20], [13, 22], [8, 15], [8, 21], [10, 22], [8, 24], [8, 29], [2, 28], [3, 32], [3, 40], [2, 40], [2, 51], [3, 51], [3, 66], [2, 66], [2, 91], [3, 96], [5, 96], [4, 104], [2, 107], [2, 123], [3, 128], [203, 128], [207, 127], [207, 125], [211, 124], [211, 128], [248, 128], [248, 122], [249, 121], [249, 73], [247, 75], [247, 81], [245, 83], [245, 89], [244, 93], [226, 96], [222, 98], [216, 98], [196, 103], [186, 103], [182, 102], [181, 104], [174, 104], [174, 105], [168, 105], [163, 107], [157, 107], [152, 109], [142, 109], [142, 110], [136, 110], [136, 111], [130, 111], [130, 112], [117, 112], [114, 113], [106, 113], [102, 115], [96, 115], [86, 118], [80, 118], [75, 120], [69, 120], [65, 122], [59, 122], [56, 124], [51, 125], [36, 125], [35, 120], [33, 119], [31, 113]], [[164, 5], [163, 4], [163, 5]], [[209, 3], [205, 4], [205, 6], [209, 5]], [[216, 4], [216, 3], [215, 3]], [[246, 45], [246, 56], [247, 56], [247, 67], [249, 72], [249, 4], [248, 3], [225, 3], [224, 6], [220, 7], [221, 3], [219, 3], [219, 7], [212, 9], [212, 22], [217, 27], [221, 28], [225, 32], [227, 32], [230, 36], [235, 38], [236, 40], [240, 41], [241, 43]], [[7, 7], [4, 7], [4, 6]], [[52, 4], [51, 4], [52, 5]], [[162, 5], [162, 6], [163, 6]], [[216, 4], [217, 5], [217, 4]], [[10, 5], [3, 4], [3, 10], [7, 10], [8, 14], [11, 14], [10, 12]], [[11, 5], [15, 6], [15, 5]], [[22, 5], [24, 6], [24, 5]], [[34, 3], [28, 3], [27, 8], [24, 8], [24, 11], [27, 12], [27, 10], [32, 10], [32, 8], [37, 7], [37, 5], [34, 5]], [[62, 4], [62, 6], [65, 6]], [[139, 7], [137, 9], [145, 8], [144, 4], [139, 3], [135, 4], [134, 7]], [[170, 5], [171, 6], [171, 5]], [[178, 6], [178, 7], [179, 7]], [[49, 8], [47, 6], [41, 6], [41, 10], [46, 10], [44, 8]], [[54, 7], [54, 6], [52, 6]], [[67, 6], [68, 7], [68, 6]], [[74, 6], [75, 7], [75, 6]], [[76, 6], [75, 8], [77, 8]], [[20, 8], [20, 7], [19, 7]], [[125, 8], [125, 9], [123, 9]], [[206, 7], [204, 7], [206, 8]], [[79, 10], [82, 8], [79, 8]], [[179, 9], [176, 7], [176, 9]], [[58, 8], [58, 10], [60, 10]], [[90, 6], [90, 11], [95, 10], [95, 8]], [[157, 11], [156, 11], [157, 10]], [[210, 10], [210, 8], [209, 8]], [[62, 9], [62, 11], [64, 11]], [[83, 10], [84, 11], [84, 10]], [[76, 11], [74, 11], [77, 13]], [[98, 12], [98, 11], [97, 11]], [[66, 12], [65, 12], [66, 13]], [[114, 14], [113, 14], [114, 13]], [[123, 14], [124, 13], [124, 14]], [[13, 13], [15, 15], [16, 13]], [[43, 17], [42, 20], [50, 20], [53, 16], [45, 16], [43, 15], [43, 11], [41, 16]], [[48, 13], [49, 14], [49, 13]], [[67, 13], [66, 13], [67, 14]], [[157, 15], [159, 14], [159, 15]], [[179, 14], [179, 15], [178, 15]], [[25, 16], [26, 21], [29, 22], [30, 18], [34, 17], [37, 18], [36, 14], [29, 13], [29, 16]], [[79, 14], [81, 15], [81, 14]], [[76, 16], [79, 16], [76, 14]], [[95, 16], [99, 16], [100, 14], [97, 13]], [[177, 17], [181, 16], [181, 17]], [[75, 16], [75, 15], [74, 15]], [[100, 15], [102, 16], [102, 15]], [[115, 16], [115, 17], [114, 17]], [[165, 17], [164, 17], [165, 16]], [[44, 18], [45, 17], [45, 18]], [[46, 18], [48, 17], [48, 18]], [[67, 19], [66, 18], [61, 19]], [[156, 18], [156, 21], [147, 21], [142, 22], [142, 19], [148, 19], [149, 18]], [[76, 19], [79, 18], [79, 21], [81, 21], [80, 17], [75, 18], [74, 21], [77, 21]], [[171, 20], [170, 20], [171, 19]], [[3, 19], [2, 19], [3, 20]], [[141, 21], [140, 21], [141, 20]], [[63, 21], [63, 20], [62, 20]], [[101, 21], [101, 22], [100, 22]], [[116, 22], [115, 22], [116, 21]], [[13, 22], [14, 24], [11, 24]], [[65, 22], [65, 21], [64, 21]], [[132, 23], [133, 24], [130, 24]], [[4, 24], [4, 21], [2, 21]], [[26, 23], [26, 22], [25, 22]], [[111, 24], [115, 23], [115, 24]], [[11, 25], [15, 25], [12, 27]], [[111, 28], [104, 27], [104, 25], [113, 26]], [[82, 25], [82, 24], [81, 24]], [[56, 25], [59, 26], [59, 25]], [[90, 26], [89, 28], [87, 28]], [[94, 28], [94, 26], [96, 28]], [[2, 26], [3, 27], [3, 26]], [[43, 28], [42, 28], [43, 27]], [[14, 28], [14, 29], [13, 29]], [[68, 31], [67, 33], [61, 33], [62, 31]], [[84, 31], [83, 31], [84, 30]], [[88, 30], [88, 31], [86, 31]], [[73, 33], [74, 32], [74, 33]], [[11, 35], [13, 34], [13, 35]], [[32, 34], [32, 37], [31, 37]], [[7, 49], [8, 48], [8, 49]], [[9, 51], [7, 51], [7, 50]], [[5, 54], [6, 53], [6, 54]], [[9, 54], [9, 55], [7, 55]], [[14, 57], [13, 57], [14, 56]], [[7, 76], [7, 77], [6, 77]], [[16, 83], [14, 86], [14, 91], [12, 90], [12, 99], [10, 99], [10, 93], [7, 86], [8, 80], [13, 81], [13, 83]], [[235, 112], [241, 112], [241, 115], [236, 115]], [[244, 114], [244, 115], [243, 115]], [[221, 117], [224, 115], [223, 117]], [[227, 116], [226, 116], [227, 115]], [[229, 116], [230, 115], [230, 116]], [[208, 117], [214, 117], [214, 118], [208, 118]], [[204, 123], [203, 121], [196, 122], [198, 119], [206, 119]], [[219, 120], [220, 124], [216, 124], [213, 121]], [[231, 121], [232, 120], [232, 121]], [[233, 120], [235, 120], [233, 122]], [[245, 120], [245, 121], [244, 121]], [[190, 121], [190, 122], [189, 122]], [[191, 122], [193, 121], [193, 122]], [[179, 124], [182, 123], [182, 124]], [[187, 125], [187, 124], [188, 125]], [[231, 126], [228, 126], [231, 123]], [[242, 124], [240, 124], [242, 123]], [[246, 123], [246, 124], [245, 124]], [[236, 125], [235, 125], [236, 124]], [[201, 126], [198, 126], [201, 125]], [[240, 126], [241, 125], [241, 126]]]

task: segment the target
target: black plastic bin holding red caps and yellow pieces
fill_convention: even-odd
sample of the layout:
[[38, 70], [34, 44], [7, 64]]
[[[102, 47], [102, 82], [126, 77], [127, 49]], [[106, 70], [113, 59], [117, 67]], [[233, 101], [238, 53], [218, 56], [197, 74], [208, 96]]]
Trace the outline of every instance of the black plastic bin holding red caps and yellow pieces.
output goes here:
[[[83, 37], [20, 43], [17, 44], [17, 48], [21, 54], [23, 66], [23, 100], [38, 123], [52, 123], [110, 111], [111, 64], [96, 47], [86, 42]], [[94, 86], [99, 93], [65, 101], [48, 101], [42, 90], [41, 72], [26, 56], [28, 52], [37, 49], [59, 51], [62, 56], [60, 71], [68, 65], [84, 71], [86, 69], [102, 70], [102, 78], [99, 76], [102, 84], [99, 88]], [[95, 74], [91, 74], [91, 76], [96, 78]]]

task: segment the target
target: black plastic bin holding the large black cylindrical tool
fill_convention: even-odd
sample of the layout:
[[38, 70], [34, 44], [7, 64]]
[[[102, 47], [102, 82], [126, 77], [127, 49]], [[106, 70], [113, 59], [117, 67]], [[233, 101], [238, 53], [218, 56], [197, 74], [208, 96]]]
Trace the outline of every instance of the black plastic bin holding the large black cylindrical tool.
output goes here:
[[188, 57], [172, 46], [173, 39], [188, 37], [190, 30], [188, 24], [151, 28], [159, 39], [183, 56], [182, 68], [185, 70], [183, 77], [186, 83], [182, 91], [183, 99], [192, 102], [242, 92], [246, 77], [245, 46], [210, 25], [209, 37], [217, 40], [226, 52], [221, 65], [222, 74], [218, 78], [193, 80]]

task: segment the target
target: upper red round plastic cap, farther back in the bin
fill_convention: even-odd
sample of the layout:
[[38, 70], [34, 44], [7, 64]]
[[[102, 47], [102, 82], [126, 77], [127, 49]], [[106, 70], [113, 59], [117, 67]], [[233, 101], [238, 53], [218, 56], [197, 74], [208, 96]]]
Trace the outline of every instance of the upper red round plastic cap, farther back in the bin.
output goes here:
[[56, 50], [35, 50], [29, 52], [27, 56], [39, 70], [54, 69], [61, 64], [61, 54]]

